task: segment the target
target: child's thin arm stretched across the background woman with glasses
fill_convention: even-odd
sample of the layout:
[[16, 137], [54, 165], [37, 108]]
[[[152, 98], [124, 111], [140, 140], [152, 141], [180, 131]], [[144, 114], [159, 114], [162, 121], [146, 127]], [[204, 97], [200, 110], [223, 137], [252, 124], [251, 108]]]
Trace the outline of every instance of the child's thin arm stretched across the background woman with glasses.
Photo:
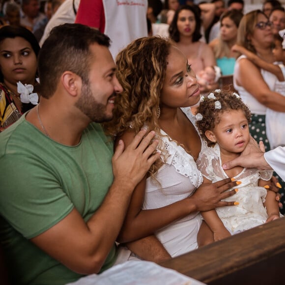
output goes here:
[[260, 57], [256, 56], [254, 53], [250, 52], [246, 48], [239, 45], [233, 45], [231, 50], [233, 52], [238, 52], [240, 54], [245, 55], [250, 61], [252, 61], [259, 68], [265, 69], [273, 73], [274, 75], [276, 75], [279, 81], [284, 81], [282, 70], [278, 65], [264, 61]]

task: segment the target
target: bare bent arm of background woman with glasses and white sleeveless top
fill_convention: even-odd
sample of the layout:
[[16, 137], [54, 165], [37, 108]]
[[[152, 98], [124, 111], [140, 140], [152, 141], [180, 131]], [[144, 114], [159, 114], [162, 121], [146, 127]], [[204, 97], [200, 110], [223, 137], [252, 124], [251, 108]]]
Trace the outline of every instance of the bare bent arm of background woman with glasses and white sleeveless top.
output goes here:
[[260, 104], [274, 111], [285, 112], [285, 97], [269, 89], [259, 68], [249, 59], [239, 60], [234, 78], [236, 84], [243, 86]]

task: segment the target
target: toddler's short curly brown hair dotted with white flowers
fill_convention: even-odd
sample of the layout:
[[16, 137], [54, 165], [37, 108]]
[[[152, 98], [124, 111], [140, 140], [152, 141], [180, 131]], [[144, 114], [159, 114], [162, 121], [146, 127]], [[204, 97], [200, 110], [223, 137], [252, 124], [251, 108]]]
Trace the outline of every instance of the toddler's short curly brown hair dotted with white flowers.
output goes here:
[[[219, 107], [221, 108], [219, 109]], [[217, 89], [201, 99], [197, 108], [196, 124], [201, 137], [207, 142], [208, 146], [212, 146], [214, 143], [207, 139], [205, 132], [207, 130], [212, 131], [220, 122], [221, 114], [231, 110], [242, 110], [248, 122], [251, 122], [249, 108], [235, 92]]]

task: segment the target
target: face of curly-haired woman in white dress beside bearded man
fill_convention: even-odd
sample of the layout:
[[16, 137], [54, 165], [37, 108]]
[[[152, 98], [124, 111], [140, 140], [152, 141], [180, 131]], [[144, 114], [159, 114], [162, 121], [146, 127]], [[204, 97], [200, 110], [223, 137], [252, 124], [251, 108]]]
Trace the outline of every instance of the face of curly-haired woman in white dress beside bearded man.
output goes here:
[[178, 108], [197, 104], [200, 99], [199, 85], [187, 58], [171, 46], [167, 62], [160, 106]]

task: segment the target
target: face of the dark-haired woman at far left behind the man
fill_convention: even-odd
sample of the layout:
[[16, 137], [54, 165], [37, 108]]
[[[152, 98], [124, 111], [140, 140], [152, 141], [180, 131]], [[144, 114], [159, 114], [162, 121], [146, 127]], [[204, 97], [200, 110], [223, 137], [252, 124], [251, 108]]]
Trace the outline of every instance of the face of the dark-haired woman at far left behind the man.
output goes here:
[[30, 43], [22, 37], [6, 38], [0, 43], [0, 68], [4, 81], [34, 83], [36, 55]]

